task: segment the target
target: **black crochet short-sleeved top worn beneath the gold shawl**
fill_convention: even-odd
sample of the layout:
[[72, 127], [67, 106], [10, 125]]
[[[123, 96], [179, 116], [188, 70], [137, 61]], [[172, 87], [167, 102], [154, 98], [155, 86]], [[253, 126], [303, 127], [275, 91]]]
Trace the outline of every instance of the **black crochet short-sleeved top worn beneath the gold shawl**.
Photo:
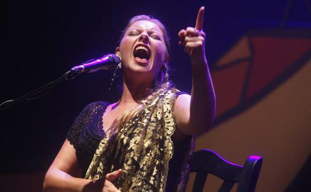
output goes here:
[[[177, 96], [180, 94], [184, 94], [184, 92], [178, 92]], [[102, 101], [88, 104], [78, 115], [67, 134], [68, 141], [76, 150], [78, 164], [82, 170], [82, 178], [85, 177], [100, 141], [105, 137], [102, 117], [108, 105], [110, 103]], [[177, 188], [178, 177], [180, 177], [178, 173], [183, 164], [180, 160], [183, 159], [185, 148], [189, 146], [190, 140], [191, 136], [187, 142], [177, 143], [172, 137], [174, 143], [173, 156], [168, 166], [166, 192], [175, 191]]]

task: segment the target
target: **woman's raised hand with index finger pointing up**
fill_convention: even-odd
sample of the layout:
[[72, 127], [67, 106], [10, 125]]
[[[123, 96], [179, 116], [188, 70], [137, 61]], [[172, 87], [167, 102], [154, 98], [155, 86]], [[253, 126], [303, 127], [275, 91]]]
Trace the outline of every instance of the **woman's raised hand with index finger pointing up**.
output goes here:
[[204, 6], [197, 14], [195, 27], [187, 27], [178, 32], [179, 44], [184, 46], [185, 52], [190, 56], [192, 64], [207, 64], [205, 57], [205, 33], [203, 31]]

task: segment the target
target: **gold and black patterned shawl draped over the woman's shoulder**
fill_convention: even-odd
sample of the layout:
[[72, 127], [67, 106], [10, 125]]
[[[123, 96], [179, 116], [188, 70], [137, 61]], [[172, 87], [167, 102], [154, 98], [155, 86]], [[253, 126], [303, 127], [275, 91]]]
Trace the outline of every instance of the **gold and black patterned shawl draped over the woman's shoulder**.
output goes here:
[[[113, 182], [121, 192], [165, 192], [168, 161], [173, 155], [171, 135], [175, 130], [173, 105], [176, 91], [172, 88], [158, 94], [117, 134], [104, 137], [85, 179], [98, 180], [122, 169], [122, 175]], [[191, 153], [192, 149], [189, 149], [186, 161]], [[187, 175], [189, 166], [182, 169], [181, 175]], [[184, 185], [180, 187], [178, 184], [178, 188], [184, 188]]]

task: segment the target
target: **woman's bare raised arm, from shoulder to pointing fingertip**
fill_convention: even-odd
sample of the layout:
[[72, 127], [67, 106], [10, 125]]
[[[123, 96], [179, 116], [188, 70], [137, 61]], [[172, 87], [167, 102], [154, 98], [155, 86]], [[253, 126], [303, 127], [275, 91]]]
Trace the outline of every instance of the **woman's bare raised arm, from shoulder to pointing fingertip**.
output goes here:
[[179, 31], [179, 44], [190, 56], [192, 68], [191, 96], [180, 95], [174, 106], [178, 131], [185, 135], [199, 135], [207, 131], [215, 116], [215, 93], [205, 56], [203, 31], [204, 7], [198, 11], [195, 27]]

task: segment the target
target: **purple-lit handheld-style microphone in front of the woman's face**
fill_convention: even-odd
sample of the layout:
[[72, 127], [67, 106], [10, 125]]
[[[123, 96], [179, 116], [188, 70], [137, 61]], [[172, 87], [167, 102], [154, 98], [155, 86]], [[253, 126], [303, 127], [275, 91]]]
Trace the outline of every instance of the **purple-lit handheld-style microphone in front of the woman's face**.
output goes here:
[[82, 65], [74, 66], [70, 71], [74, 73], [88, 73], [95, 72], [100, 69], [109, 70], [120, 63], [120, 58], [115, 54], [107, 54], [102, 58], [92, 60], [88, 63], [83, 63]]

